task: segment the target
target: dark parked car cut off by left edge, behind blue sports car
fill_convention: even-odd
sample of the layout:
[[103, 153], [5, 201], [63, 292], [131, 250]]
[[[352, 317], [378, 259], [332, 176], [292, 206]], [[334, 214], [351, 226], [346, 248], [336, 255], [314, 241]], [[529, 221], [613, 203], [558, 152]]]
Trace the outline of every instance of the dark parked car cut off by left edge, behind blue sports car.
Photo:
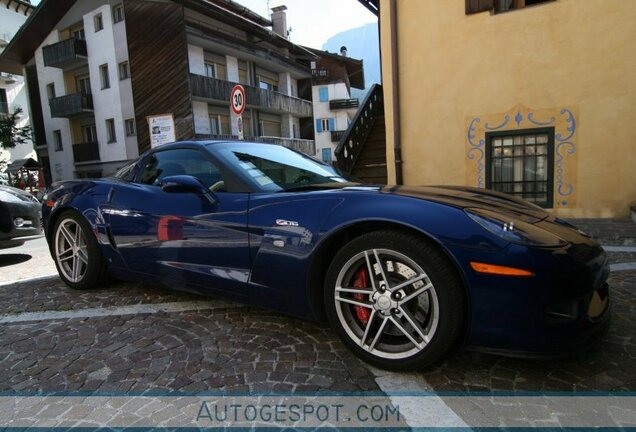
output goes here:
[[21, 246], [42, 235], [40, 201], [28, 192], [0, 185], [0, 249]]

